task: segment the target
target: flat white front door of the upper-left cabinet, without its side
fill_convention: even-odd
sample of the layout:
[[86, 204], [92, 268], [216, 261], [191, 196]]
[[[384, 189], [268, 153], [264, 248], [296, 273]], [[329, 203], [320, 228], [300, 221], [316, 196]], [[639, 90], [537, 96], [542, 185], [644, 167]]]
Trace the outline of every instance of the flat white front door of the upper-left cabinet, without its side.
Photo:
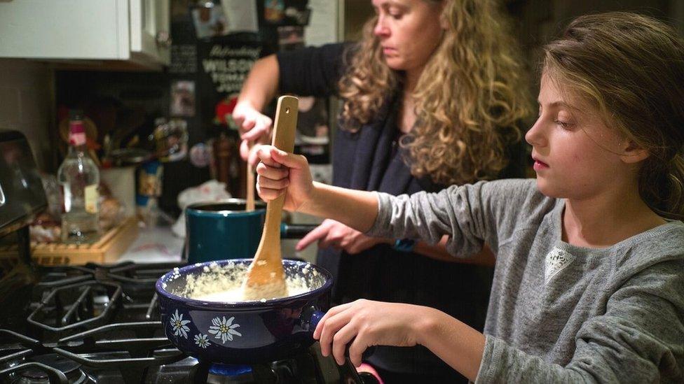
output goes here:
[[0, 57], [128, 59], [126, 0], [0, 1]]

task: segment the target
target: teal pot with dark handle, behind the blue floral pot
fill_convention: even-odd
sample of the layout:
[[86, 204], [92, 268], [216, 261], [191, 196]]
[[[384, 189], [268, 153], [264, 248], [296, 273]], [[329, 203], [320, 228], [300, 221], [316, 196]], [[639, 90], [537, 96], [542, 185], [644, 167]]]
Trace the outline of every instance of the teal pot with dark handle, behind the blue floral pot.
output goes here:
[[[249, 259], [257, 252], [266, 218], [266, 204], [245, 211], [244, 199], [197, 203], [185, 209], [186, 258], [190, 264], [224, 259]], [[280, 226], [282, 239], [299, 239], [315, 225]]]

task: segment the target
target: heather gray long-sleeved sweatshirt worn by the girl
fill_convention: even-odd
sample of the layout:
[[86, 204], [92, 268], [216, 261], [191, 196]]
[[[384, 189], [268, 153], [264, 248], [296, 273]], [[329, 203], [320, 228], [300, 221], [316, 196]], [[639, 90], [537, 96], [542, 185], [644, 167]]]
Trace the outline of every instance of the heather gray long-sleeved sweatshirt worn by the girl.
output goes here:
[[582, 248], [533, 179], [378, 199], [371, 235], [496, 254], [476, 383], [684, 383], [683, 222]]

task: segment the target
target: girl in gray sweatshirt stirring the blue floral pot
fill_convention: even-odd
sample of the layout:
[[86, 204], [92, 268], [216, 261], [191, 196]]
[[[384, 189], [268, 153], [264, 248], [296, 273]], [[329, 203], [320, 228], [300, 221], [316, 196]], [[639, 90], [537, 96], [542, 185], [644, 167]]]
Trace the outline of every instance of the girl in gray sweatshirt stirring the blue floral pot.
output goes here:
[[[476, 383], [684, 381], [684, 43], [650, 17], [579, 17], [545, 47], [536, 180], [392, 197], [312, 183], [262, 148], [259, 193], [372, 235], [496, 254], [484, 334], [425, 306], [355, 301], [315, 330], [354, 364], [422, 345]], [[280, 166], [278, 168], [277, 166]]]

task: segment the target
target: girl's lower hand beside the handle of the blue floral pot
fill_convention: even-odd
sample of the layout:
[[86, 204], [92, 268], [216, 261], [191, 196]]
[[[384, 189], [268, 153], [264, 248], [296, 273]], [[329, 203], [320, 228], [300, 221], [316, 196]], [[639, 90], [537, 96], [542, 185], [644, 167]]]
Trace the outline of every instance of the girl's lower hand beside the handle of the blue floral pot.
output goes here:
[[344, 364], [349, 359], [361, 365], [361, 355], [371, 346], [411, 347], [420, 343], [419, 336], [430, 324], [436, 309], [411, 304], [384, 303], [360, 299], [331, 308], [318, 323], [313, 338], [320, 341], [321, 353]]

